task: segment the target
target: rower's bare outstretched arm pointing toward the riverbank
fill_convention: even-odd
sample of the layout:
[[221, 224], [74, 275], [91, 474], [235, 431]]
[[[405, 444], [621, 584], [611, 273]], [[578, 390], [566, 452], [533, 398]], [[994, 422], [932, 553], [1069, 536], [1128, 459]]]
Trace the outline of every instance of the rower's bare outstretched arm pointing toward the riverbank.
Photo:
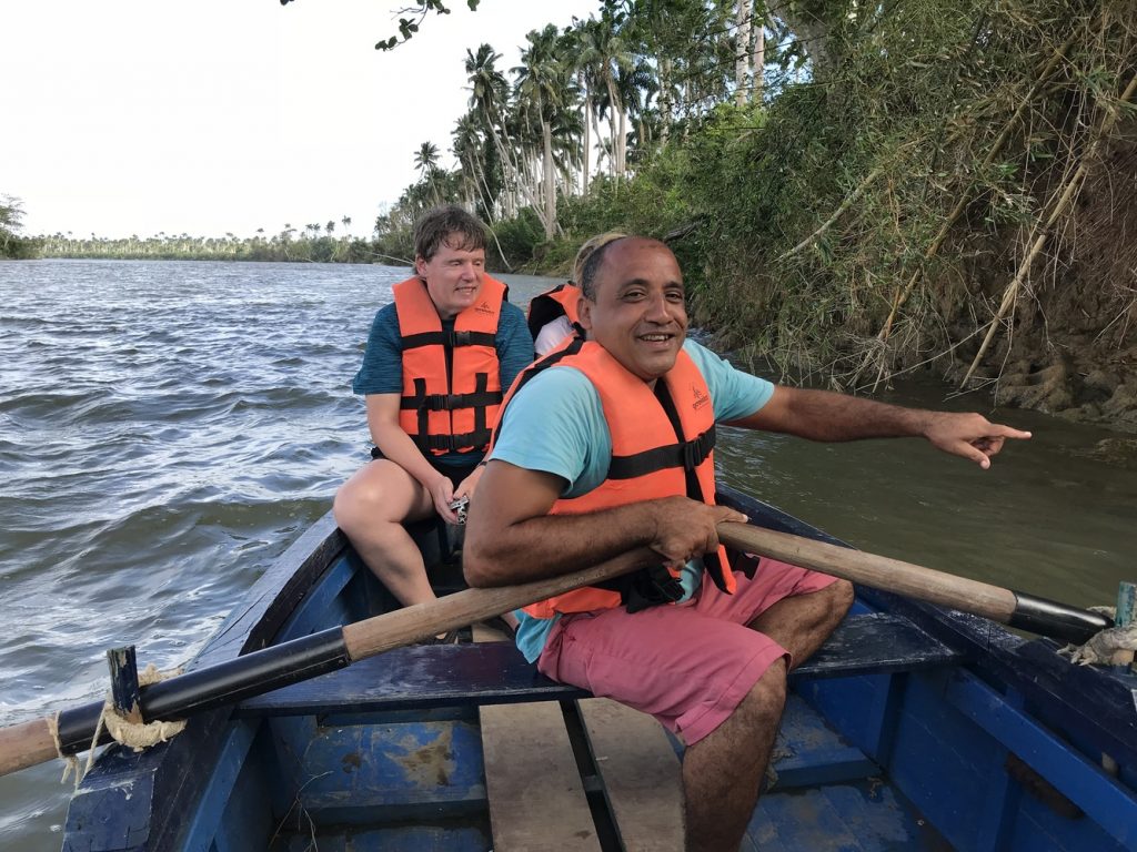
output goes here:
[[982, 415], [927, 411], [779, 385], [773, 396], [749, 417], [735, 420], [767, 432], [811, 441], [856, 441], [869, 437], [924, 437], [944, 452], [970, 459], [985, 470], [1007, 438], [1028, 438], [1029, 432], [995, 424]]

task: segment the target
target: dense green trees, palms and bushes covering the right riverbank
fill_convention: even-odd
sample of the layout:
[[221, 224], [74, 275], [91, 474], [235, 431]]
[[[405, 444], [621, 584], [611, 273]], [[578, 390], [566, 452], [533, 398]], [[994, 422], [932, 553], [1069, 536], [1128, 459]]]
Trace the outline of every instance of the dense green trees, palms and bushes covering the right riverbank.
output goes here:
[[1137, 424], [1130, 0], [605, 0], [499, 59], [467, 52], [458, 165], [424, 144], [377, 223], [392, 253], [439, 199], [476, 207], [504, 268], [647, 233], [697, 319], [786, 374], [930, 365]]

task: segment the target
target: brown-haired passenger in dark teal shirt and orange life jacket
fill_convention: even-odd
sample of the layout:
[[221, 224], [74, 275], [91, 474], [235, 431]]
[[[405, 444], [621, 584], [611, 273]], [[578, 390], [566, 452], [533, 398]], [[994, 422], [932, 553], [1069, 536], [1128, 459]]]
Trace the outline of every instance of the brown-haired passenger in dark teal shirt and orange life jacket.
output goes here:
[[506, 286], [485, 274], [485, 232], [458, 207], [415, 228], [416, 275], [375, 315], [352, 389], [365, 394], [375, 449], [335, 495], [335, 520], [404, 604], [433, 600], [404, 523], [472, 496], [501, 390], [532, 359], [533, 340]]

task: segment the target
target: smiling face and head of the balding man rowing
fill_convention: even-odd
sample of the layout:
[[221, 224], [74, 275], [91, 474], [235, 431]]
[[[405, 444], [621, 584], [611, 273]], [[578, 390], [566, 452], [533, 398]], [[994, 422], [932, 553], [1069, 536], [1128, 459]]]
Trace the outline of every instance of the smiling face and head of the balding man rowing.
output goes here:
[[621, 240], [605, 253], [595, 284], [596, 301], [580, 301], [589, 339], [645, 382], [670, 370], [687, 336], [683, 276], [671, 250]]

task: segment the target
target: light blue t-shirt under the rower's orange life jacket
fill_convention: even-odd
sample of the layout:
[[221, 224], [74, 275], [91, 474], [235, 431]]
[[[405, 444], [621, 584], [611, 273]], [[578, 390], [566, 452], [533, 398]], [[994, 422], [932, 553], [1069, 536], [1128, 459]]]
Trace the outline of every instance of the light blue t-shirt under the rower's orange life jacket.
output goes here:
[[[716, 423], [748, 417], [773, 395], [770, 382], [736, 370], [695, 341], [686, 341], [683, 350], [706, 379]], [[612, 461], [612, 434], [596, 386], [573, 367], [551, 367], [534, 376], [506, 407], [490, 458], [559, 476], [567, 482], [565, 498], [596, 488]], [[702, 565], [688, 563], [680, 578], [687, 598], [702, 577]], [[520, 610], [516, 615], [517, 648], [533, 662], [555, 619], [532, 618]]]

